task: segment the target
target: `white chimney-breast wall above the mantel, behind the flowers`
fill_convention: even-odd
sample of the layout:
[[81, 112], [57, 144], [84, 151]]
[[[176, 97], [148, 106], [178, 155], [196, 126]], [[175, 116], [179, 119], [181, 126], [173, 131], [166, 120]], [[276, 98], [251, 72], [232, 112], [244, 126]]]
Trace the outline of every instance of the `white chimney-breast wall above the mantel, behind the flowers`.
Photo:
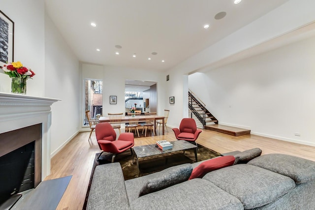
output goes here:
[[[21, 61], [35, 72], [27, 81], [27, 94], [44, 96], [45, 44], [44, 2], [38, 0], [1, 0], [1, 11], [15, 24], [14, 61]], [[11, 79], [0, 73], [0, 91], [11, 92]]]

